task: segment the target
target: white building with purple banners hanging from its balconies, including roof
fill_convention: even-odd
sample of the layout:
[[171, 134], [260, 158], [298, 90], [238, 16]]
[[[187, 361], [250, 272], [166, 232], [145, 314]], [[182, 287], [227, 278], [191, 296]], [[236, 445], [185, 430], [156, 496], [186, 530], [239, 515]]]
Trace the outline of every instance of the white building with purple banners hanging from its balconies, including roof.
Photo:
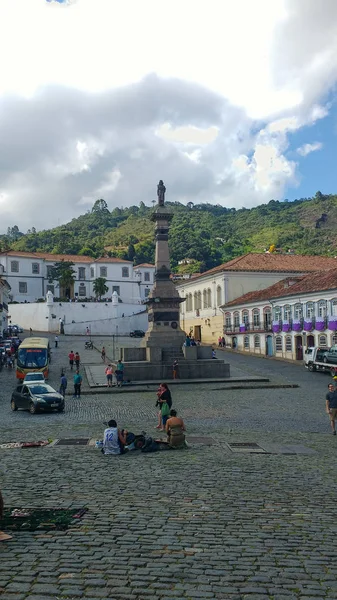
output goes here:
[[287, 277], [227, 302], [222, 310], [227, 345], [302, 360], [307, 347], [337, 344], [337, 268]]

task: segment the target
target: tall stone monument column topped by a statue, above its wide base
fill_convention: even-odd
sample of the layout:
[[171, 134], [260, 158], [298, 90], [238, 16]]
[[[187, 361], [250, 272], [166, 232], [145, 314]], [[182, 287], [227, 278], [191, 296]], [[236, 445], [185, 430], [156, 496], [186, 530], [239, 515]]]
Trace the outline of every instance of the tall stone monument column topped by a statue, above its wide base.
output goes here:
[[185, 333], [179, 325], [181, 298], [171, 279], [168, 233], [173, 214], [165, 206], [166, 188], [162, 180], [157, 186], [158, 204], [151, 220], [155, 222], [156, 259], [154, 286], [145, 303], [149, 327], [142, 346], [181, 349]]

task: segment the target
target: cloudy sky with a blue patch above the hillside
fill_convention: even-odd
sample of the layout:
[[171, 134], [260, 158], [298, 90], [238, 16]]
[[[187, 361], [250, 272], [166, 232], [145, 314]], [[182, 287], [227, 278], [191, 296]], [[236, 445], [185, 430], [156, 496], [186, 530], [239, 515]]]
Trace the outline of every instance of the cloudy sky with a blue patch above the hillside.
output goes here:
[[[324, 7], [324, 10], [323, 10]], [[336, 0], [0, 0], [0, 233], [337, 192]]]

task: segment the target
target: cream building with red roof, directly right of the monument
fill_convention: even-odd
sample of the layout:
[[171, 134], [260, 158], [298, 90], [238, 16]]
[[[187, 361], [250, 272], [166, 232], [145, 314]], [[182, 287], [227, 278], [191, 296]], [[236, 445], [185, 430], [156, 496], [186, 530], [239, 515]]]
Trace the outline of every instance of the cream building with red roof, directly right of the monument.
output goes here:
[[216, 343], [224, 333], [221, 306], [292, 276], [337, 267], [337, 259], [294, 254], [245, 254], [197, 277], [177, 282], [181, 327], [196, 339]]

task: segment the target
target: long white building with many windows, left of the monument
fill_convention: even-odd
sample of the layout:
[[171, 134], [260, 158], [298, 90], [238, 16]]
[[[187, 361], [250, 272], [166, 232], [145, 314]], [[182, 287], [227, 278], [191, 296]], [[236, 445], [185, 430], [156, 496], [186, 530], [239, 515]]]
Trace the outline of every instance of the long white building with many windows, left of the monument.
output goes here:
[[[60, 290], [57, 281], [50, 281], [51, 269], [60, 261], [74, 263], [74, 282], [66, 290]], [[132, 262], [121, 258], [93, 259], [91, 256], [10, 250], [0, 253], [0, 265], [11, 286], [11, 300], [14, 302], [36, 302], [44, 299], [48, 291], [56, 297], [84, 300], [95, 296], [93, 283], [98, 277], [103, 277], [108, 287], [107, 298], [116, 291], [120, 301], [136, 304], [150, 293], [154, 277], [154, 265], [134, 267]]]

